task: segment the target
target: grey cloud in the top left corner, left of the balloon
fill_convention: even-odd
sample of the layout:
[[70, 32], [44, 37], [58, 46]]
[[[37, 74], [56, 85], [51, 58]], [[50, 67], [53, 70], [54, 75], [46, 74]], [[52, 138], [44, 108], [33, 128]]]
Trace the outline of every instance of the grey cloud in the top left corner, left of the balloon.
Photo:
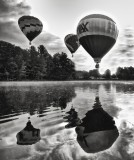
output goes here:
[[0, 39], [11, 43], [24, 43], [22, 32], [18, 27], [18, 18], [30, 13], [30, 6], [25, 1], [0, 1]]

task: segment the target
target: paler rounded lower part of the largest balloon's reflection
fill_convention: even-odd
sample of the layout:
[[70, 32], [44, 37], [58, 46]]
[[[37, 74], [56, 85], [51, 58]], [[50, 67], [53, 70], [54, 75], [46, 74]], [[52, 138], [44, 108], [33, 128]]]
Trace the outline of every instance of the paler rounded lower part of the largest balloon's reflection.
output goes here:
[[[79, 127], [79, 130], [82, 130], [82, 128]], [[96, 153], [110, 148], [118, 136], [118, 130], [112, 129], [77, 136], [77, 141], [85, 152]]]

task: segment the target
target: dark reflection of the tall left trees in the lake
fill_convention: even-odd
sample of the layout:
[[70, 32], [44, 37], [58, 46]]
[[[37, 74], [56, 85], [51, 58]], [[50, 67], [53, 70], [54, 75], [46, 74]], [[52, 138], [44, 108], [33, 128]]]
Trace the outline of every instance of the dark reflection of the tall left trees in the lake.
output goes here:
[[0, 113], [11, 114], [12, 111], [21, 113], [42, 114], [47, 107], [66, 108], [68, 102], [76, 96], [72, 86], [52, 87], [13, 87], [0, 92]]

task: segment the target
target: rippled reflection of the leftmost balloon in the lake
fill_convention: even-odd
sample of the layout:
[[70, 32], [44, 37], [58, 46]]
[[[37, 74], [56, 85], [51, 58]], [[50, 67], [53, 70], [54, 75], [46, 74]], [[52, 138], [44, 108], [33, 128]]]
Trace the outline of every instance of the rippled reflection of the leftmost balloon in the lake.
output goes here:
[[37, 143], [40, 138], [40, 129], [36, 129], [31, 124], [31, 121], [29, 120], [26, 124], [26, 127], [21, 130], [16, 135], [17, 137], [17, 144], [19, 145], [32, 145]]

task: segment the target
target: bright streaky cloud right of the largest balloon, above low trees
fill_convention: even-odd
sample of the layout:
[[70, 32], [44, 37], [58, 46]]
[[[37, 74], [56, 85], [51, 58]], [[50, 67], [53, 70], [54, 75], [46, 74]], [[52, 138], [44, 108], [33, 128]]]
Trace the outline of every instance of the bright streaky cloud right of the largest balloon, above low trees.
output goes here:
[[104, 73], [106, 69], [110, 69], [115, 73], [118, 67], [134, 66], [134, 47], [130, 45], [132, 43], [134, 44], [134, 29], [129, 27], [121, 32], [116, 47], [102, 58], [100, 72]]

